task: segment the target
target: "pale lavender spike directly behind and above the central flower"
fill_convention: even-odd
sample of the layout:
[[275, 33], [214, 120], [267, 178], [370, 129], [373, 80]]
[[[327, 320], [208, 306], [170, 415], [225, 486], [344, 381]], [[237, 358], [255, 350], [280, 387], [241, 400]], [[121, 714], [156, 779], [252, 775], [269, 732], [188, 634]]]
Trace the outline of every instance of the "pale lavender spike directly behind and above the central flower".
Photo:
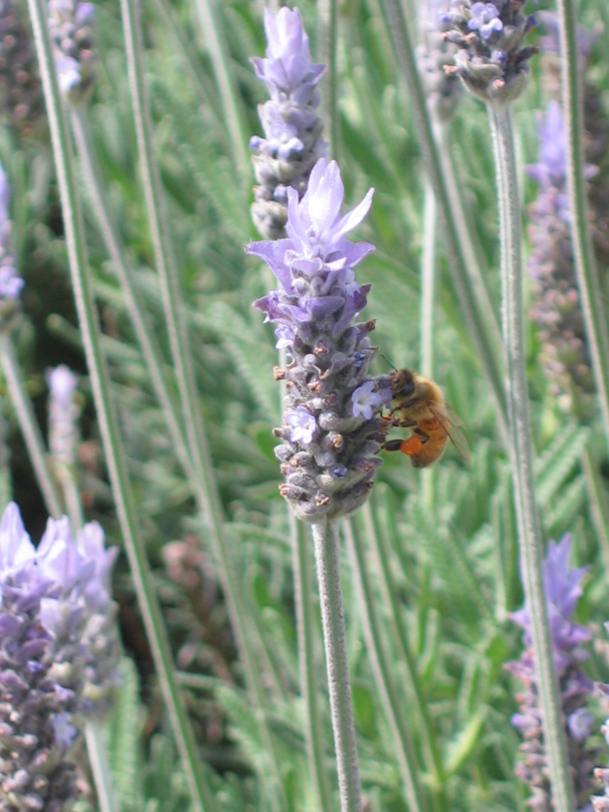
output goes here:
[[253, 57], [256, 75], [266, 83], [270, 101], [258, 106], [265, 137], [253, 136], [252, 218], [267, 240], [285, 237], [287, 189], [302, 197], [313, 165], [325, 152], [317, 83], [326, 70], [314, 65], [300, 14], [287, 6], [273, 15], [265, 9], [266, 58]]

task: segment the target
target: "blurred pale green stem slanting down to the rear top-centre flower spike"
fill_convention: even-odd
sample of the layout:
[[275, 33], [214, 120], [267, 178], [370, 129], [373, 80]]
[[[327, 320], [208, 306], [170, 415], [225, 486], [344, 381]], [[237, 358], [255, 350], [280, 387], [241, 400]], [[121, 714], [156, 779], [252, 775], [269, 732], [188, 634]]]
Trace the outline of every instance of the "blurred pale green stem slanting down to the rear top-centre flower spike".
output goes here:
[[252, 163], [249, 160], [243, 117], [240, 110], [240, 100], [237, 97], [235, 84], [231, 78], [228, 67], [227, 45], [223, 40], [218, 24], [217, 11], [212, 0], [195, 0], [197, 13], [201, 21], [201, 30], [205, 37], [205, 44], [209, 50], [209, 57], [214, 68], [220, 101], [227, 120], [228, 133], [231, 137], [232, 153], [241, 179], [249, 183], [252, 175]]

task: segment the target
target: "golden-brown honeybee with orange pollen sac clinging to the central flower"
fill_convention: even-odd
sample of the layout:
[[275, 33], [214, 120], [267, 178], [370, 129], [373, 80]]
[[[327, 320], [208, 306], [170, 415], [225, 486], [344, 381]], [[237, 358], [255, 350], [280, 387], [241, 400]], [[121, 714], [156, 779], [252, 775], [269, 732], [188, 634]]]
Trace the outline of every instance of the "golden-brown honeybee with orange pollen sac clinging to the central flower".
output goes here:
[[463, 422], [444, 400], [438, 384], [410, 369], [395, 369], [389, 377], [393, 408], [387, 419], [391, 425], [412, 429], [412, 434], [405, 440], [387, 440], [383, 448], [401, 451], [415, 468], [426, 468], [440, 459], [450, 438], [460, 456], [469, 460]]

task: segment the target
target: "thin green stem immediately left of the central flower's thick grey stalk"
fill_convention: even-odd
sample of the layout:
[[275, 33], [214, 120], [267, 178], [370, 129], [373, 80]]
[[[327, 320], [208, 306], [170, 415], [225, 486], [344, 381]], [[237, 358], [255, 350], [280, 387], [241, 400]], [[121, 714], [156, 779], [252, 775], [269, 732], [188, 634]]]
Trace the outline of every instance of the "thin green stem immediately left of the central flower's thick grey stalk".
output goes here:
[[292, 538], [292, 568], [294, 569], [294, 603], [296, 604], [296, 632], [298, 634], [298, 662], [300, 667], [300, 693], [304, 702], [306, 723], [307, 760], [320, 812], [333, 808], [330, 784], [325, 766], [322, 719], [317, 706], [317, 676], [315, 673], [315, 624], [313, 622], [313, 579], [309, 563], [309, 539], [304, 525], [288, 508], [290, 537]]

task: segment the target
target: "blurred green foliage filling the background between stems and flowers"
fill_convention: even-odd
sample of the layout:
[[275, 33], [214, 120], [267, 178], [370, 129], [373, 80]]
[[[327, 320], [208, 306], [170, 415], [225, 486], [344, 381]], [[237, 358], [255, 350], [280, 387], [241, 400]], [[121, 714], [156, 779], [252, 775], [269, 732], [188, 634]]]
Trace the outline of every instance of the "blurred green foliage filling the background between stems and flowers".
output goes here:
[[[548, 7], [540, 2], [544, 5]], [[222, 0], [214, 5], [224, 65], [235, 94], [232, 129], [226, 123], [226, 97], [218, 84], [218, 65], [201, 27], [197, 0], [149, 0], [142, 14], [155, 147], [187, 302], [186, 317], [192, 322], [200, 406], [227, 518], [227, 543], [263, 675], [266, 715], [287, 809], [307, 810], [314, 808], [314, 797], [304, 752], [292, 559], [287, 508], [277, 489], [279, 465], [272, 451], [271, 429], [280, 420], [279, 386], [272, 374], [274, 335], [250, 306], [271, 280], [268, 270], [246, 257], [243, 250], [245, 243], [257, 239], [249, 218], [253, 178], [249, 166], [244, 171], [243, 156], [249, 136], [260, 132], [257, 104], [266, 99], [266, 90], [248, 63], [250, 55], [263, 54], [266, 47], [263, 6], [262, 0]], [[301, 0], [299, 7], [315, 54], [316, 3]], [[415, 11], [413, 7], [412, 14]], [[21, 6], [18, 13], [27, 23]], [[97, 0], [95, 13], [98, 83], [89, 103], [94, 146], [114, 220], [136, 270], [140, 300], [169, 363], [158, 281], [152, 270], [119, 6], [114, 0]], [[609, 6], [605, 0], [584, 0], [580, 17], [585, 28], [596, 32], [586, 76], [598, 90], [601, 113], [609, 120]], [[531, 41], [536, 37], [533, 32]], [[391, 362], [416, 369], [425, 177], [408, 88], [396, 74], [378, 0], [339, 4], [338, 61], [339, 161], [347, 200], [350, 204], [359, 201], [369, 186], [376, 188], [371, 214], [359, 233], [362, 240], [377, 247], [358, 270], [359, 281], [373, 286], [366, 317], [377, 320], [374, 337]], [[536, 123], [549, 101], [542, 60], [533, 58], [532, 65], [529, 88], [515, 110], [521, 169], [537, 160]], [[323, 94], [323, 81], [321, 88]], [[45, 369], [63, 362], [81, 375], [81, 495], [88, 519], [100, 520], [110, 542], [120, 544], [81, 351], [45, 132], [44, 122], [32, 133], [9, 120], [0, 130], [0, 161], [13, 191], [13, 240], [25, 279], [24, 317], [15, 344], [43, 426]], [[495, 175], [486, 114], [471, 97], [462, 99], [451, 123], [450, 149], [469, 222], [489, 269], [486, 281], [499, 317]], [[525, 214], [536, 191], [524, 171], [520, 176]], [[84, 214], [104, 346], [140, 522], [201, 756], [208, 765], [218, 808], [266, 810], [267, 757], [243, 693], [243, 677], [213, 565], [193, 542], [202, 536], [205, 546], [205, 529], [197, 520], [188, 483], [153, 397], [95, 218], [86, 207]], [[509, 620], [510, 611], [523, 600], [512, 484], [486, 383], [452, 292], [441, 235], [438, 248], [435, 378], [464, 418], [472, 462], [467, 468], [449, 448], [437, 467], [435, 504], [430, 510], [421, 500], [419, 472], [404, 458], [395, 459], [400, 455], [386, 455], [371, 507], [389, 555], [408, 646], [441, 754], [439, 783], [426, 761], [421, 715], [402, 688], [403, 664], [378, 580], [378, 561], [370, 551], [369, 571], [430, 808], [438, 812], [523, 810], [525, 788], [513, 777], [519, 738], [510, 724], [518, 686], [503, 669], [521, 650], [520, 631]], [[603, 282], [607, 287], [606, 273]], [[585, 669], [593, 679], [607, 680], [602, 624], [609, 620], [609, 547], [594, 521], [598, 512], [607, 516], [609, 462], [603, 433], [595, 418], [587, 424], [577, 423], [548, 395], [548, 384], [537, 363], [539, 341], [534, 326], [529, 328], [528, 348], [545, 538], [571, 532], [573, 564], [590, 566], [577, 620], [593, 628], [597, 641]], [[376, 363], [376, 373], [387, 372], [385, 361], [378, 358]], [[28, 529], [37, 538], [45, 523], [44, 505], [3, 384], [0, 395], [13, 492]], [[597, 490], [590, 486], [590, 476], [582, 467], [585, 455], [598, 472]], [[365, 801], [369, 810], [400, 812], [406, 809], [400, 773], [370, 671], [346, 557], [343, 565]], [[127, 654], [119, 706], [107, 729], [120, 808], [184, 810], [188, 788], [179, 771], [124, 556], [114, 589]], [[321, 631], [317, 637], [319, 681], [324, 685]], [[334, 781], [325, 695], [320, 698], [320, 708], [328, 775]], [[85, 774], [86, 767], [83, 769]], [[130, 775], [136, 775], [135, 783]], [[85, 794], [80, 803], [90, 808], [95, 799]]]

